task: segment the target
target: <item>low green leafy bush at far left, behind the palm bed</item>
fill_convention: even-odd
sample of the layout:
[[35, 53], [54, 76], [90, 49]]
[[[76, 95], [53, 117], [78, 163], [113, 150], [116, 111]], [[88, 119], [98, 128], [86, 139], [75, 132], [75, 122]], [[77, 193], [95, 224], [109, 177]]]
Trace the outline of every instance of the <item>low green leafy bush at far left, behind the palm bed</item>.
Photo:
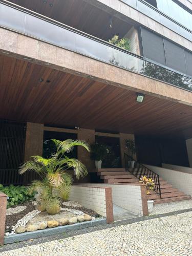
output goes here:
[[25, 186], [6, 186], [0, 184], [0, 191], [5, 193], [9, 199], [7, 200], [7, 208], [20, 203], [34, 199], [34, 194], [28, 194], [28, 187]]

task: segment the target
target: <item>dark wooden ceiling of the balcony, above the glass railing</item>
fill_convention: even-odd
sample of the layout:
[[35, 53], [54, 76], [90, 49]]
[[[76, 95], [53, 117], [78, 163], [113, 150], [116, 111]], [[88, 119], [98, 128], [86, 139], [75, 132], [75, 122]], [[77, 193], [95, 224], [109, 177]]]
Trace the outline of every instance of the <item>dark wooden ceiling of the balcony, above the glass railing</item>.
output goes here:
[[[110, 14], [83, 0], [47, 0], [47, 4], [44, 4], [43, 0], [10, 2], [107, 41], [114, 34], [124, 36], [131, 28], [130, 24], [116, 17], [113, 17], [110, 28]], [[50, 4], [53, 4], [53, 7], [50, 7]]]

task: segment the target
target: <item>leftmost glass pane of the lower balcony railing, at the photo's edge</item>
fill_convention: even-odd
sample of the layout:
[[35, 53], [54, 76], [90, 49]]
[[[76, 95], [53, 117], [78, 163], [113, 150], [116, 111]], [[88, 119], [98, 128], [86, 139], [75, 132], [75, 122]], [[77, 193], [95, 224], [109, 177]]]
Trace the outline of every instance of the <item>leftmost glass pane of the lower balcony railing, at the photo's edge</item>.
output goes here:
[[6, 28], [14, 29], [18, 32], [24, 32], [25, 24], [24, 12], [20, 12], [16, 9], [13, 9], [9, 6], [0, 4], [0, 23], [1, 26]]

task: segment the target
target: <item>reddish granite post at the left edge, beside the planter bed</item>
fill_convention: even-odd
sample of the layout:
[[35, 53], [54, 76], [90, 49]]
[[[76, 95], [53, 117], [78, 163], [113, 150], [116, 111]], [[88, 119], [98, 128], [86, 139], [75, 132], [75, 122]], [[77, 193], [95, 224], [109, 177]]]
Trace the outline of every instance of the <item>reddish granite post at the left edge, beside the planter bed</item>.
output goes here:
[[4, 244], [7, 195], [0, 192], [0, 245]]

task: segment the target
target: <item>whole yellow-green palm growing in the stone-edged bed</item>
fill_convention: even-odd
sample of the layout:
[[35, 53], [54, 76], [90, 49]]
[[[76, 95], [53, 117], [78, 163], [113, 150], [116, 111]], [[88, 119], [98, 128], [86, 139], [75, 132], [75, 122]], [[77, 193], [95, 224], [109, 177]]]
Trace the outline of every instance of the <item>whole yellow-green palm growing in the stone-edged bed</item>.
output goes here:
[[19, 169], [19, 174], [32, 170], [40, 176], [40, 180], [34, 180], [30, 185], [29, 194], [33, 194], [34, 191], [38, 192], [37, 209], [46, 210], [49, 214], [57, 214], [60, 211], [62, 200], [69, 197], [73, 179], [67, 171], [73, 168], [77, 179], [88, 173], [84, 164], [75, 158], [68, 158], [65, 153], [73, 151], [74, 146], [83, 146], [90, 151], [89, 145], [80, 140], [53, 140], [53, 142], [57, 150], [51, 158], [33, 156], [33, 160], [23, 163]]

